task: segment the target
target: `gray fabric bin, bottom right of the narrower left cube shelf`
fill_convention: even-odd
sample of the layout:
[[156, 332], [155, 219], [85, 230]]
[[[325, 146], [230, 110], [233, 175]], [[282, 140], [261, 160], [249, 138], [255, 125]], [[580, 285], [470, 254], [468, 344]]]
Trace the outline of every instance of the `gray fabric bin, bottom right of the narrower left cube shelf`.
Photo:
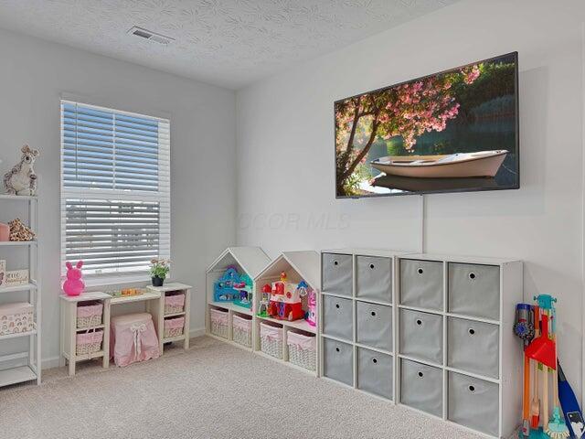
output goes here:
[[393, 399], [392, 369], [390, 355], [357, 348], [357, 389]]

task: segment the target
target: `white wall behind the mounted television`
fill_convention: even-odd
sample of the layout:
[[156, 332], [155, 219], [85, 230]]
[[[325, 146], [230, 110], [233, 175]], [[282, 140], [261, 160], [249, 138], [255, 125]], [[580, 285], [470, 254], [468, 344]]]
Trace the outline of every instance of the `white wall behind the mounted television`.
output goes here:
[[420, 197], [335, 199], [333, 102], [517, 50], [521, 188], [428, 196], [426, 251], [524, 260], [525, 298], [558, 296], [579, 392], [584, 16], [578, 0], [463, 1], [239, 91], [239, 244], [420, 250]]

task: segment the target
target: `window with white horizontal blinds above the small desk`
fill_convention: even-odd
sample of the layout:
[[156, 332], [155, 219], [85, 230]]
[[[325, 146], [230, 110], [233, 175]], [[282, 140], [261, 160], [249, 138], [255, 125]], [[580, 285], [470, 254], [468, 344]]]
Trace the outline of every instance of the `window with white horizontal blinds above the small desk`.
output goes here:
[[170, 124], [61, 101], [61, 270], [145, 273], [170, 257]]

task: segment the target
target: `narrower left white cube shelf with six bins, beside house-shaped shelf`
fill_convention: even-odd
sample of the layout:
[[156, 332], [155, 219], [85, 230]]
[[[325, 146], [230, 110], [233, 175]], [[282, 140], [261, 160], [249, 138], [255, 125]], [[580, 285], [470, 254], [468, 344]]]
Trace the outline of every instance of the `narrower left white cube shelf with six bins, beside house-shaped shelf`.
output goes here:
[[390, 401], [396, 255], [353, 249], [321, 253], [321, 375]]

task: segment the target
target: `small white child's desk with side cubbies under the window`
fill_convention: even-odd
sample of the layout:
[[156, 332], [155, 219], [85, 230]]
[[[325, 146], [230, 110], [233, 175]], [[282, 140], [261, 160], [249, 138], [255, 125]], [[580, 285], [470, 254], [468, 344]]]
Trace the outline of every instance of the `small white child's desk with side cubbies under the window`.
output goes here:
[[[190, 285], [170, 283], [163, 286], [148, 286], [144, 294], [124, 295], [112, 297], [110, 294], [101, 292], [83, 293], [77, 296], [61, 294], [61, 339], [60, 350], [61, 356], [59, 365], [65, 366], [69, 363], [69, 375], [75, 375], [75, 365], [78, 361], [86, 359], [102, 358], [102, 367], [110, 366], [110, 325], [111, 325], [111, 307], [115, 305], [131, 304], [135, 302], [146, 302], [146, 312], [153, 316], [154, 328], [158, 336], [158, 343], [161, 355], [164, 352], [165, 343], [182, 341], [183, 348], [189, 348], [189, 315], [191, 297]], [[165, 314], [165, 295], [171, 292], [181, 292], [185, 294], [185, 307], [183, 312], [174, 314]], [[97, 327], [77, 327], [77, 305], [80, 302], [98, 300], [103, 302], [103, 317], [101, 325]], [[185, 317], [185, 326], [183, 334], [177, 337], [165, 338], [165, 318]], [[99, 352], [86, 355], [77, 355], [77, 334], [92, 329], [103, 329], [103, 343]]]

